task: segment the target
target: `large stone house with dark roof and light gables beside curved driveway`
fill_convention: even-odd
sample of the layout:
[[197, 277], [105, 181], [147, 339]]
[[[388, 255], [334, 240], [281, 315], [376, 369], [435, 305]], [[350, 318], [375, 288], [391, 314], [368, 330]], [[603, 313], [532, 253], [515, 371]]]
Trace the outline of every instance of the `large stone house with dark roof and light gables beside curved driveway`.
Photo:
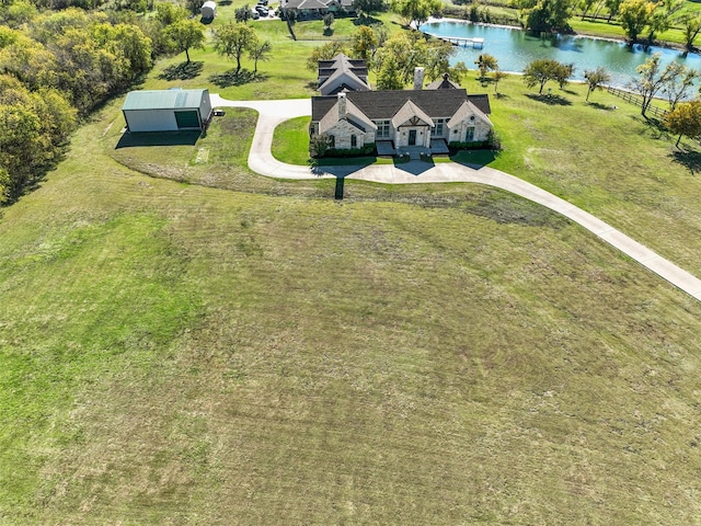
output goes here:
[[[423, 70], [416, 84], [421, 87]], [[447, 77], [444, 80], [448, 80]], [[440, 84], [443, 85], [443, 83]], [[447, 83], [436, 90], [338, 92], [313, 96], [310, 135], [326, 134], [336, 149], [375, 144], [380, 155], [407, 147], [445, 153], [451, 142], [487, 140], [490, 98]]]

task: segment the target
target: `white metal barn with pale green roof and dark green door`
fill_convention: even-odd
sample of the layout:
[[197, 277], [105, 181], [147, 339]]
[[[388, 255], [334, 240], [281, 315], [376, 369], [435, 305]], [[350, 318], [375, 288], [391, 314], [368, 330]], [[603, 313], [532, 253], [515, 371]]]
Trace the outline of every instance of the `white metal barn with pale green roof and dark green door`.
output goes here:
[[209, 90], [130, 91], [122, 113], [129, 132], [203, 129], [211, 117]]

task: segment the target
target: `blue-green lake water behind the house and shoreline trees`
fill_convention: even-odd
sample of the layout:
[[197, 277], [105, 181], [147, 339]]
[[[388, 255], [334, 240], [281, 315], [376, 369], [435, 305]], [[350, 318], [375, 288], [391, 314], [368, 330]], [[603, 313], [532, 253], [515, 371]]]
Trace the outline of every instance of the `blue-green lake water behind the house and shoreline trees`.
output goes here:
[[570, 35], [549, 34], [539, 37], [517, 28], [461, 21], [429, 22], [422, 25], [421, 30], [434, 36], [484, 38], [482, 49], [473, 49], [471, 44], [468, 44], [468, 47], [458, 47], [452, 62], [462, 60], [470, 69], [475, 67], [474, 61], [481, 53], [496, 57], [503, 71], [521, 72], [533, 60], [551, 58], [564, 64], [574, 64], [575, 80], [584, 80], [585, 69], [602, 66], [611, 75], [610, 83], [622, 87], [636, 77], [637, 66], [653, 54], [660, 53], [663, 64], [677, 60], [701, 71], [701, 56], [690, 53], [683, 57], [679, 50], [656, 46], [643, 49], [643, 46], [635, 45], [631, 48], [624, 43]]

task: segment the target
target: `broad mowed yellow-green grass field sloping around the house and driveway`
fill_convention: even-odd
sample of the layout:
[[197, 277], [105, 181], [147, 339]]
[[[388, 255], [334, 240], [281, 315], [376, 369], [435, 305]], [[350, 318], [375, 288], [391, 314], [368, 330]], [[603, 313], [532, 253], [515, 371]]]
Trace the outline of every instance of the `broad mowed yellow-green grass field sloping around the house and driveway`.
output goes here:
[[[492, 165], [699, 274], [693, 151], [499, 91]], [[0, 523], [699, 523], [698, 301], [507, 193], [336, 202], [250, 172], [253, 112], [120, 144], [119, 106], [0, 217]]]

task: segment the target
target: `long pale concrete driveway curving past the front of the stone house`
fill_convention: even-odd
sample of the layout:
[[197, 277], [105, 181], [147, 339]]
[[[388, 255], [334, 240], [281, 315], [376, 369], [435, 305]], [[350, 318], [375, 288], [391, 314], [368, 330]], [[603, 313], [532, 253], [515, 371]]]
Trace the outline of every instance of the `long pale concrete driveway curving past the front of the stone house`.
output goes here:
[[554, 210], [583, 226], [595, 236], [650, 268], [696, 299], [701, 300], [701, 279], [659, 256], [591, 214], [567, 203], [514, 175], [489, 167], [472, 169], [452, 162], [430, 164], [412, 161], [405, 164], [371, 164], [369, 167], [299, 167], [276, 160], [272, 152], [275, 127], [290, 118], [311, 115], [311, 100], [285, 101], [226, 101], [211, 95], [214, 107], [250, 107], [258, 112], [249, 167], [261, 175], [278, 179], [348, 178], [387, 184], [409, 183], [480, 183], [512, 192]]

